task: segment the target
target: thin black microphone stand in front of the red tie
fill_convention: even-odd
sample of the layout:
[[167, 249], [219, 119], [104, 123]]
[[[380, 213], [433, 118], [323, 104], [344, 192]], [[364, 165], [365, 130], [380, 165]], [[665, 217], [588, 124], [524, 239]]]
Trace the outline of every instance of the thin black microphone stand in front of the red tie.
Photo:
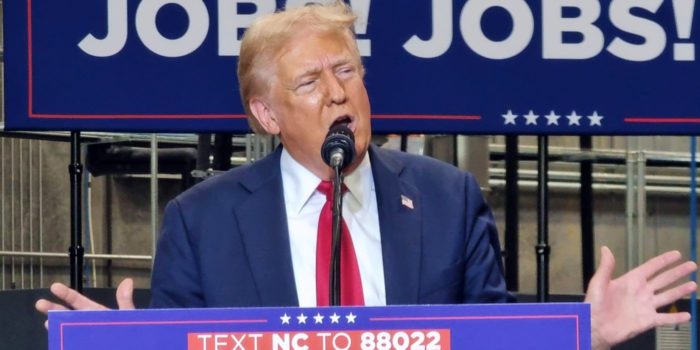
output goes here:
[[330, 286], [328, 288], [329, 305], [340, 305], [340, 237], [341, 237], [341, 220], [343, 218], [343, 194], [341, 193], [341, 185], [343, 184], [343, 175], [340, 172], [340, 165], [334, 166], [335, 177], [333, 178], [333, 236], [331, 243], [331, 271], [330, 271]]

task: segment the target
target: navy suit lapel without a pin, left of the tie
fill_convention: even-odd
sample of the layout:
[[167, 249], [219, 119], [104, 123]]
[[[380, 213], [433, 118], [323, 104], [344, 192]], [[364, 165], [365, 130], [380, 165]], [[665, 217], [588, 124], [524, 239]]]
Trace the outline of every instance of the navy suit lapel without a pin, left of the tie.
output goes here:
[[241, 181], [250, 196], [236, 208], [239, 230], [263, 306], [299, 304], [289, 245], [281, 147], [249, 168]]

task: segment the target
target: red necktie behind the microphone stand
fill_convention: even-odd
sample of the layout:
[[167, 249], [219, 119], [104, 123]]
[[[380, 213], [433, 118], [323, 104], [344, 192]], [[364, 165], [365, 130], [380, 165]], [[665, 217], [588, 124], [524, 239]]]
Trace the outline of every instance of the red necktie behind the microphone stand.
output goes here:
[[[326, 203], [321, 209], [318, 220], [318, 237], [316, 241], [316, 305], [329, 305], [329, 287], [331, 266], [331, 242], [333, 240], [333, 184], [330, 181], [321, 181], [318, 191], [326, 195]], [[343, 186], [343, 192], [345, 192]], [[362, 294], [362, 280], [360, 268], [357, 266], [355, 248], [352, 245], [352, 237], [345, 220], [340, 222], [342, 233], [340, 234], [340, 305], [364, 305], [365, 298]]]

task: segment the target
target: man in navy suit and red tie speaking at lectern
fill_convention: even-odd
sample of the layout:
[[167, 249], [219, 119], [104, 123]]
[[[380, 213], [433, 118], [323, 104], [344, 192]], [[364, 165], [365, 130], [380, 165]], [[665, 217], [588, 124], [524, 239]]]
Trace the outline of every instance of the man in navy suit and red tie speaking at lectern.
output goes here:
[[[241, 97], [253, 129], [279, 135], [283, 148], [168, 205], [153, 307], [324, 305], [317, 228], [326, 196], [319, 182], [332, 172], [320, 149], [336, 124], [356, 140], [357, 156], [345, 170], [343, 217], [360, 303], [509, 301], [493, 218], [472, 177], [435, 160], [370, 146], [354, 19], [337, 2], [264, 16], [247, 30], [239, 58]], [[696, 289], [688, 282], [661, 292], [695, 270], [687, 262], [659, 273], [679, 259], [678, 252], [666, 253], [611, 281], [614, 260], [603, 248], [586, 298], [594, 348], [689, 319], [656, 312]], [[133, 307], [131, 289], [130, 280], [118, 288], [120, 308]], [[74, 309], [103, 308], [63, 285], [51, 290]], [[37, 302], [42, 312], [60, 308]]]

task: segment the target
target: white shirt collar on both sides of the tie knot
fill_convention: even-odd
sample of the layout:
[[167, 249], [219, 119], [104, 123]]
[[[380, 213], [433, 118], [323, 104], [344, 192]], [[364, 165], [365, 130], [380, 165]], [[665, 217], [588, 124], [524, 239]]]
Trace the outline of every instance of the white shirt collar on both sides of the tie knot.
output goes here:
[[[291, 208], [293, 213], [298, 214], [316, 191], [321, 179], [292, 158], [285, 148], [282, 148], [280, 156], [280, 170], [285, 205]], [[369, 202], [369, 196], [374, 192], [369, 154], [365, 154], [355, 171], [345, 176], [344, 183], [360, 207]]]

